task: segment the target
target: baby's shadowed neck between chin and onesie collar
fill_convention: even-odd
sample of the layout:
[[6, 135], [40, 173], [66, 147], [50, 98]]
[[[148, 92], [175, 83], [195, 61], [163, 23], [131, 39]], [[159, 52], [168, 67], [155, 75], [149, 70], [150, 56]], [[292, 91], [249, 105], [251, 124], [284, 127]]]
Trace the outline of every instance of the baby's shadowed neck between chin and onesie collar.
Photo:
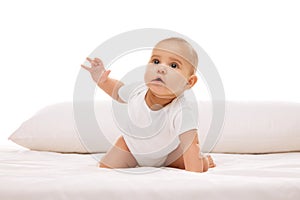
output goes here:
[[145, 95], [145, 101], [146, 104], [148, 105], [148, 107], [151, 110], [160, 110], [161, 108], [165, 107], [166, 105], [168, 105], [169, 103], [171, 103], [173, 101], [173, 99], [175, 99], [176, 97], [166, 97], [166, 98], [162, 98], [162, 97], [158, 97], [155, 96], [150, 89], [148, 89], [146, 95]]

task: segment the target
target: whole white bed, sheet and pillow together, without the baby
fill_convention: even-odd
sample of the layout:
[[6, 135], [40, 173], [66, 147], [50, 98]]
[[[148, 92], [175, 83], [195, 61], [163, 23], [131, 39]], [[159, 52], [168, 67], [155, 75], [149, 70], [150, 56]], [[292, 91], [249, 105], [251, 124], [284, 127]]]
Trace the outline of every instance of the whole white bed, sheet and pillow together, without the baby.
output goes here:
[[[276, 138], [270, 131], [265, 131], [264, 135], [268, 135], [265, 140], [270, 140], [270, 137], [273, 140], [265, 145], [258, 142], [254, 148], [249, 135], [236, 135], [233, 133], [233, 130], [237, 130], [236, 125], [235, 129], [233, 125], [229, 125], [231, 120], [236, 120], [235, 117], [241, 119], [237, 112], [249, 114], [249, 118], [243, 118], [248, 125], [252, 122], [259, 124], [258, 121], [249, 121], [255, 119], [261, 122], [261, 119], [253, 118], [253, 112], [241, 109], [246, 107], [252, 111], [253, 103], [227, 104], [223, 135], [210, 153], [217, 167], [206, 173], [168, 167], [98, 168], [98, 160], [105, 154], [109, 144], [102, 143], [102, 149], [98, 153], [82, 152], [84, 148], [78, 146], [78, 138], [75, 139], [74, 129], [70, 128], [73, 125], [69, 123], [73, 122], [68, 122], [72, 115], [69, 112], [72, 107], [70, 103], [47, 107], [25, 121], [12, 134], [8, 145], [0, 148], [0, 199], [299, 199], [299, 104], [272, 104], [271, 113], [266, 112], [270, 110], [270, 106], [266, 109], [266, 105], [270, 103], [255, 102], [255, 105], [255, 108], [265, 108], [256, 111], [259, 116], [265, 118], [270, 114], [268, 119], [272, 119], [273, 123], [271, 128], [268, 123], [267, 128], [274, 128], [271, 132], [278, 130], [276, 126], [279, 126], [275, 123], [279, 115], [274, 115], [277, 113], [274, 107], [280, 109], [280, 116], [289, 119], [288, 123], [281, 123], [280, 127], [286, 126], [284, 137], [286, 140], [287, 137], [292, 137], [291, 141], [279, 144], [278, 141], [282, 141], [281, 132], [276, 132]], [[107, 107], [103, 106], [103, 110]], [[61, 115], [61, 112], [69, 114]], [[55, 118], [57, 126], [50, 128], [55, 113], [60, 113]], [[107, 116], [104, 118], [107, 119]], [[62, 124], [70, 129], [57, 124], [59, 121], [63, 121]], [[48, 123], [47, 129], [42, 130], [45, 125], [42, 122]], [[111, 124], [106, 125], [112, 128]], [[59, 130], [53, 130], [57, 127]], [[251, 127], [253, 126], [245, 125], [243, 134], [250, 131], [252, 139], [257, 141], [257, 134], [261, 132], [256, 134]], [[294, 131], [289, 131], [291, 128]], [[264, 130], [262, 125], [260, 130]], [[60, 134], [56, 134], [59, 131]], [[65, 138], [55, 140], [62, 133]], [[262, 142], [265, 140], [260, 138]]]

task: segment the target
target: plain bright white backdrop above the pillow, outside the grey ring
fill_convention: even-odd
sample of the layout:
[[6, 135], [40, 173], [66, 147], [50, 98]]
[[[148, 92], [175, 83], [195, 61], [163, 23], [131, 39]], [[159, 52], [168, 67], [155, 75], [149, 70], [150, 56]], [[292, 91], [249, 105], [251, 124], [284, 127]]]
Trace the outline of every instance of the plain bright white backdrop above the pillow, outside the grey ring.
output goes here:
[[[296, 0], [1, 1], [0, 144], [39, 109], [72, 101], [85, 57], [138, 28], [197, 42], [215, 63], [227, 100], [300, 102], [299, 10]], [[197, 87], [205, 93], [205, 85]]]

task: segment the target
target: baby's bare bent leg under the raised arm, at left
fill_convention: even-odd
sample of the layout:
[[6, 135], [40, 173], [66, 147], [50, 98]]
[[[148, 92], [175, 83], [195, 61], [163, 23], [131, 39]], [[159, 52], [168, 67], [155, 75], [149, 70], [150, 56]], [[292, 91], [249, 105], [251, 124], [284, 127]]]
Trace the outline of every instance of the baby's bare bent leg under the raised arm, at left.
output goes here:
[[100, 161], [101, 168], [131, 168], [136, 167], [137, 161], [131, 154], [123, 136], [120, 136], [115, 145]]

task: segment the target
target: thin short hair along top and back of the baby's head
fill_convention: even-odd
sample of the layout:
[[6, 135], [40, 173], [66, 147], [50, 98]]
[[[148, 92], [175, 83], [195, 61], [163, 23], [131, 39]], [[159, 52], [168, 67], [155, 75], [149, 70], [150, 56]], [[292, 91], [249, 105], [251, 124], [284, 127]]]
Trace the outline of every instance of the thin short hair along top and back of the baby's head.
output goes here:
[[179, 38], [179, 37], [170, 37], [167, 39], [163, 39], [163, 40], [159, 41], [156, 44], [156, 46], [161, 43], [164, 43], [164, 42], [181, 43], [181, 44], [185, 45], [186, 47], [188, 47], [188, 50], [189, 50], [188, 53], [191, 55], [191, 58], [190, 59], [185, 58], [185, 59], [187, 59], [187, 61], [193, 65], [193, 67], [194, 67], [193, 74], [194, 74], [197, 69], [197, 66], [198, 66], [198, 54], [197, 54], [196, 50], [193, 48], [193, 46], [189, 42], [187, 42], [185, 39]]

